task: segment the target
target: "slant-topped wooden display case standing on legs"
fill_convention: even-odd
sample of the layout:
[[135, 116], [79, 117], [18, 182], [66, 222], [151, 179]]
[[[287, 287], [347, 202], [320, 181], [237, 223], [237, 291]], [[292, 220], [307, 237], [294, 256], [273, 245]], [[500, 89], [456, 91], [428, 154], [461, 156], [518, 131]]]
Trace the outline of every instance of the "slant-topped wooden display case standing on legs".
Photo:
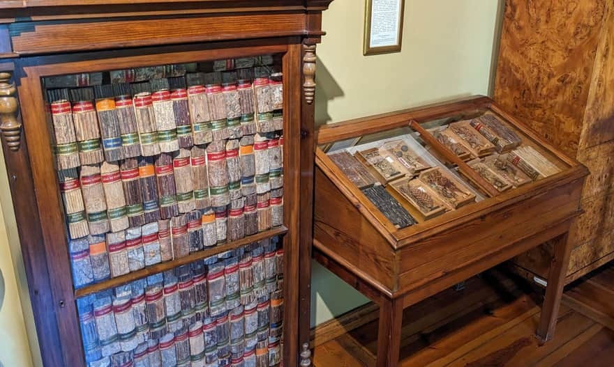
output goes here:
[[[430, 133], [461, 120], [476, 122], [489, 114], [518, 136], [521, 147], [537, 150], [560, 172], [526, 183], [510, 181], [508, 185], [514, 188], [502, 191]], [[470, 189], [475, 201], [447, 205], [443, 213], [427, 212], [426, 216], [416, 208], [411, 210], [410, 201], [404, 202], [417, 224], [396, 228], [327, 157], [337, 151], [373, 148], [399, 136], [414, 141], [426, 162], [437, 166], [434, 169], [441, 170], [443, 176], [453, 175], [459, 185]], [[361, 145], [348, 143], [358, 137]], [[567, 233], [581, 214], [585, 166], [540, 139], [488, 97], [479, 96], [325, 125], [318, 131], [317, 143], [315, 258], [379, 304], [377, 366], [397, 365], [400, 319], [407, 306], [548, 240], [553, 240], [555, 251], [537, 336], [542, 342], [552, 338], [571, 251]], [[509, 149], [514, 152], [516, 148]], [[508, 163], [505, 152], [502, 156], [492, 154], [502, 159], [502, 167]], [[516, 160], [509, 163], [514, 169], [518, 168], [515, 164], [521, 164]], [[390, 182], [387, 190], [402, 199], [398, 185], [403, 185], [403, 180], [424, 182], [425, 173], [428, 171]], [[420, 197], [428, 201], [427, 196]]]

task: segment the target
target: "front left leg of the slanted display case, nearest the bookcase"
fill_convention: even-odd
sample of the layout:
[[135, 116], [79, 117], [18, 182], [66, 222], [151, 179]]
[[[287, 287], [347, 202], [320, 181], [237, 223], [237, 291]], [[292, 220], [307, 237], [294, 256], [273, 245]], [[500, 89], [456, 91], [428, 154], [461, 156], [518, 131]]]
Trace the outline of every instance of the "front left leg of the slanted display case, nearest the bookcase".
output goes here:
[[398, 366], [400, 328], [403, 324], [402, 299], [380, 302], [380, 325], [377, 329], [377, 367]]

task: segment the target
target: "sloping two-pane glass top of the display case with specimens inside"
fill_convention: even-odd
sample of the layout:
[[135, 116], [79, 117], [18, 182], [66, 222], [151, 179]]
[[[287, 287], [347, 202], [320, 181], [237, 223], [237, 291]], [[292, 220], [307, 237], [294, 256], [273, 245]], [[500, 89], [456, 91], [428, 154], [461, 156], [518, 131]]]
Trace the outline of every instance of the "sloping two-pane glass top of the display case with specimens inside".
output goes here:
[[417, 116], [419, 122], [406, 115], [398, 123], [389, 123], [398, 118], [390, 115], [359, 119], [364, 133], [354, 125], [345, 134], [351, 121], [328, 125], [323, 130], [331, 133], [318, 141], [317, 162], [333, 167], [329, 178], [345, 176], [341, 183], [372, 204], [391, 232], [414, 233], [405, 230], [474, 212], [494, 203], [489, 198], [514, 196], [574, 163], [488, 106]]

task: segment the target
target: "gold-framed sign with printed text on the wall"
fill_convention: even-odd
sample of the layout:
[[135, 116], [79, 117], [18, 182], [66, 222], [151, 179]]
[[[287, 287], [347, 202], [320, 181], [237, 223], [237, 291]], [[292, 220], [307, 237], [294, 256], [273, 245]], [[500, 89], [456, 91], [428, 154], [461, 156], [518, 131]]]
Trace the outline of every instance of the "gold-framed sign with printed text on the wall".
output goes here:
[[366, 0], [364, 55], [399, 52], [405, 0]]

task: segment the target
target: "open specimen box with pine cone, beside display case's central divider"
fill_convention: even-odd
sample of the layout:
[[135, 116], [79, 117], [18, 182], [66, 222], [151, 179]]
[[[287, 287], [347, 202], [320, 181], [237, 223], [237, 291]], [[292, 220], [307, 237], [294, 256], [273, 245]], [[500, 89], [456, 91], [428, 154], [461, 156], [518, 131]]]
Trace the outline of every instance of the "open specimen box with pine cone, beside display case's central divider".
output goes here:
[[420, 173], [419, 179], [436, 192], [452, 209], [475, 201], [475, 195], [460, 180], [439, 167]]

